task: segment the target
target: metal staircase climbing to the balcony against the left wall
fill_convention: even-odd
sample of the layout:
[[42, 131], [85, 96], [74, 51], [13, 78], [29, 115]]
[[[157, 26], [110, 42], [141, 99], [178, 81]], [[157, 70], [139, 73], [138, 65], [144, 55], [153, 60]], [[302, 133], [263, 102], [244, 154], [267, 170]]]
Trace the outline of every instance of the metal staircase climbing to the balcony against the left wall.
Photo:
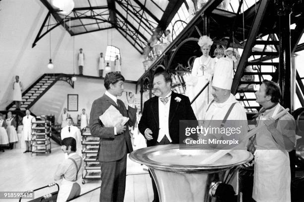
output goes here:
[[[57, 81], [66, 81], [74, 88], [74, 82], [71, 78], [71, 76], [65, 74], [42, 75], [22, 93], [21, 111], [32, 107]], [[6, 110], [16, 110], [14, 101], [6, 107]]]

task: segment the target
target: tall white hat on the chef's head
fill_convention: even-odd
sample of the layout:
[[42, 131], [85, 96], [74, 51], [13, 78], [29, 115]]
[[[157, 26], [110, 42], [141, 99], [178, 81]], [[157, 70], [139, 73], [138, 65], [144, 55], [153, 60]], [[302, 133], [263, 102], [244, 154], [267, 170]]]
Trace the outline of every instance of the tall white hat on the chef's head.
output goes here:
[[233, 63], [228, 58], [220, 58], [214, 68], [212, 86], [231, 90], [233, 80]]

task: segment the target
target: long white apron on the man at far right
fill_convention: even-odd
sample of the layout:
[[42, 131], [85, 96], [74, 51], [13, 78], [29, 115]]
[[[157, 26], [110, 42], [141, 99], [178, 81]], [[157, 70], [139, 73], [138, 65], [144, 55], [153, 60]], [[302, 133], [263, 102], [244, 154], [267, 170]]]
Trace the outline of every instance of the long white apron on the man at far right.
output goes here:
[[[278, 104], [272, 116], [279, 112], [279, 108]], [[265, 120], [265, 118], [260, 120]], [[267, 131], [264, 130], [263, 135]], [[271, 134], [269, 132], [266, 135]], [[254, 156], [252, 198], [256, 202], [291, 202], [291, 173], [288, 152], [257, 149]]]

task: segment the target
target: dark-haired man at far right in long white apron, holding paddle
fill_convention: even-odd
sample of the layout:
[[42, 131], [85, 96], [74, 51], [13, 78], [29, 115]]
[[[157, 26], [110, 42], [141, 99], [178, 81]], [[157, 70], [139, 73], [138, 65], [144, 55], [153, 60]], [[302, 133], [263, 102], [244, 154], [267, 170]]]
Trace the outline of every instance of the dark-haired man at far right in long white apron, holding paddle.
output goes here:
[[291, 202], [288, 152], [295, 147], [295, 119], [288, 112], [277, 121], [272, 118], [285, 109], [279, 104], [282, 94], [278, 84], [264, 80], [255, 96], [262, 105], [258, 125], [267, 127], [256, 134], [252, 198], [256, 202]]

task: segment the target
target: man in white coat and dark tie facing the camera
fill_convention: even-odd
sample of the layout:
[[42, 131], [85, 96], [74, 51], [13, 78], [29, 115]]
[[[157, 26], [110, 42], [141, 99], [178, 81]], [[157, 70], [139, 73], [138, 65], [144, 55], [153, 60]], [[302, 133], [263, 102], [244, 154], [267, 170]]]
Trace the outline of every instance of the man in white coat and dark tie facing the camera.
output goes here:
[[[65, 139], [67, 137], [73, 137], [76, 139], [77, 146], [77, 154], [82, 156], [81, 154], [81, 134], [79, 128], [73, 125], [73, 119], [71, 117], [67, 117], [67, 126], [61, 129], [61, 139]], [[67, 155], [66, 155], [67, 157]]]

